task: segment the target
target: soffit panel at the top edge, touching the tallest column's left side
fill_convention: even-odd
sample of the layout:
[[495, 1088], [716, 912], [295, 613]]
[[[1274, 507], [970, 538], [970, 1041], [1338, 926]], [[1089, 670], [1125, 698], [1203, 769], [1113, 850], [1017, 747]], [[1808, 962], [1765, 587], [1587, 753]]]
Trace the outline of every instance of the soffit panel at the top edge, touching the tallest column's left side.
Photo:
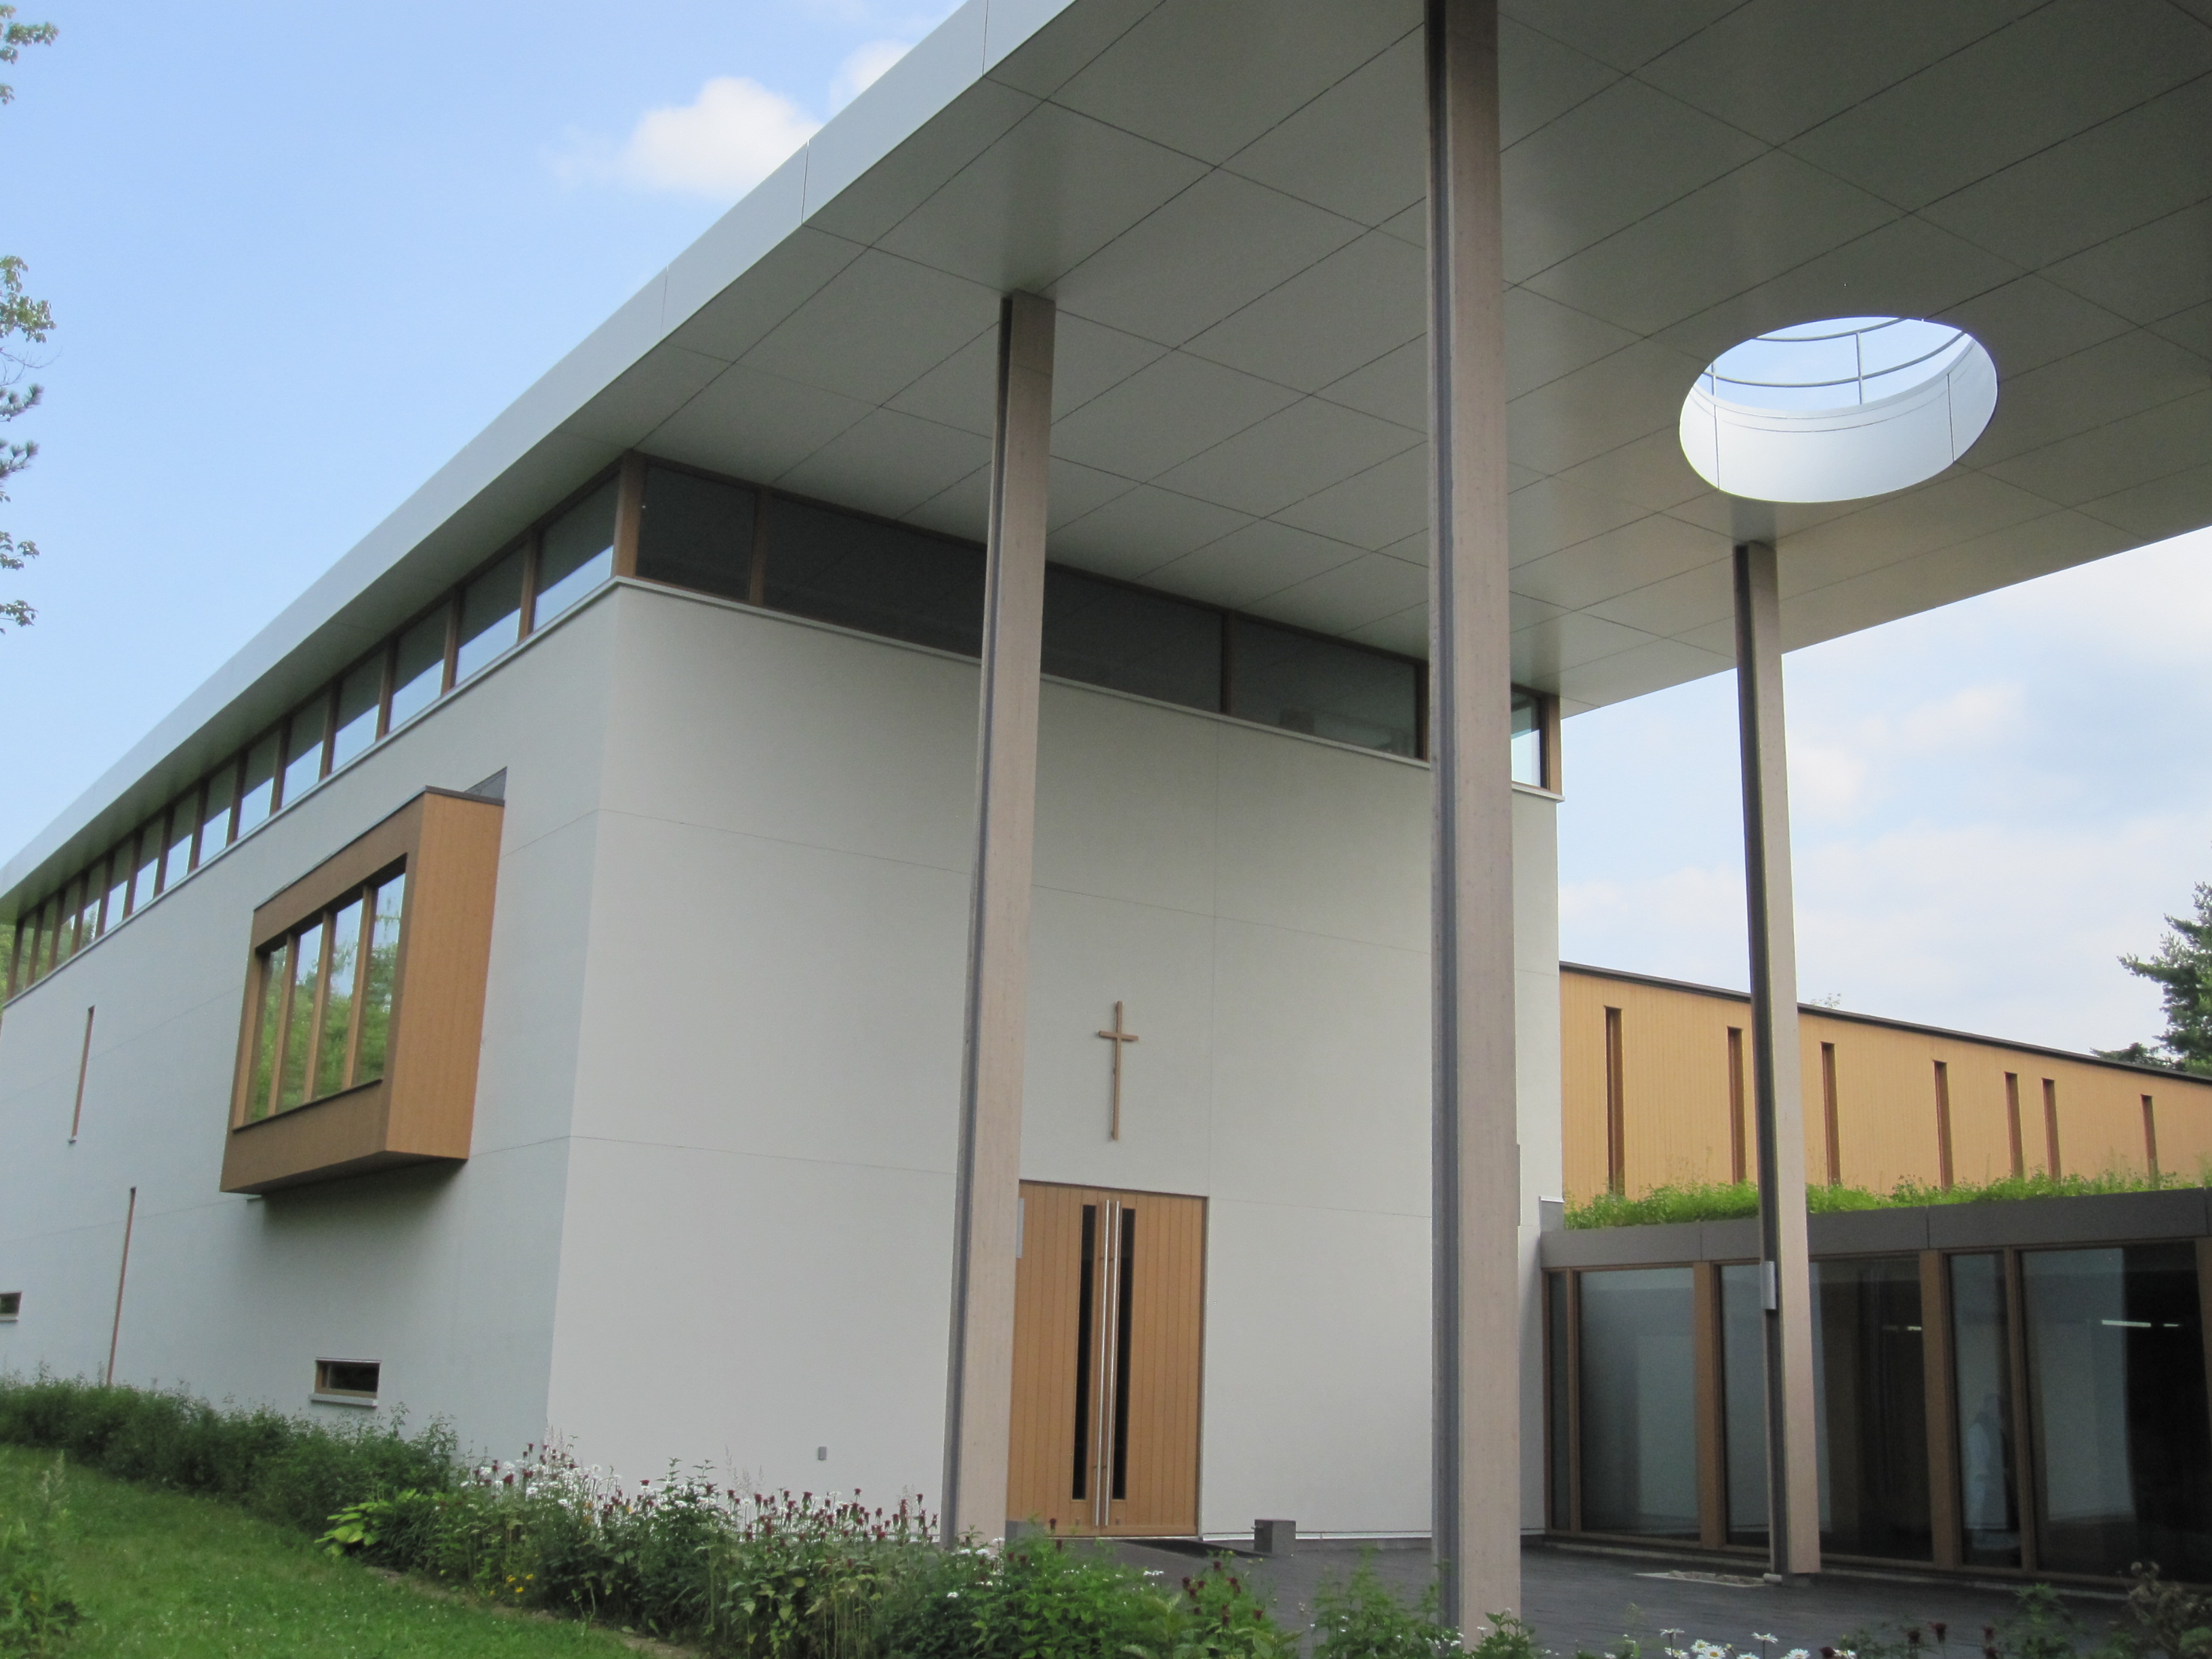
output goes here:
[[1053, 102], [1219, 166], [1418, 27], [1416, 0], [1166, 0]]

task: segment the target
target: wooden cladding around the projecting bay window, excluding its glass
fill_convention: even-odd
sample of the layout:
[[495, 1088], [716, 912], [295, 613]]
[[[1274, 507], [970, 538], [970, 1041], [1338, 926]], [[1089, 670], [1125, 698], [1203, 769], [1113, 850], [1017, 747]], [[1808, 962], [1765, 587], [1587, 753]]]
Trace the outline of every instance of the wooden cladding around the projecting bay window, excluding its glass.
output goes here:
[[498, 801], [425, 790], [254, 911], [252, 947], [259, 951], [380, 872], [407, 867], [389, 1057], [380, 1079], [246, 1121], [259, 982], [248, 973], [223, 1192], [274, 1192], [469, 1157], [500, 818]]

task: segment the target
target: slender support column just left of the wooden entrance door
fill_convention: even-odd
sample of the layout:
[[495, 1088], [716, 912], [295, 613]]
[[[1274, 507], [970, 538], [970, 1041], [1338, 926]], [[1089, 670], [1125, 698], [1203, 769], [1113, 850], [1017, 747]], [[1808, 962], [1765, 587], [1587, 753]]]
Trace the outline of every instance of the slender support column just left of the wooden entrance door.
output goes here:
[[1035, 294], [1009, 294], [998, 314], [975, 883], [969, 896], [967, 1042], [953, 1192], [953, 1329], [945, 1380], [942, 1500], [949, 1544], [969, 1533], [987, 1540], [1006, 1533], [1053, 316], [1053, 303]]

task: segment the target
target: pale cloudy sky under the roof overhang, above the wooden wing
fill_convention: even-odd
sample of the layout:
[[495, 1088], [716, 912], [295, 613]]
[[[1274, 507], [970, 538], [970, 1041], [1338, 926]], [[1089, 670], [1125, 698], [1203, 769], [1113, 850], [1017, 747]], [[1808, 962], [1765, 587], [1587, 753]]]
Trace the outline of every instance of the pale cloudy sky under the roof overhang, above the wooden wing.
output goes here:
[[[1798, 984], [2068, 1048], [2154, 1037], [2212, 876], [2212, 533], [1792, 653]], [[1562, 949], [1743, 984], [1728, 675], [1566, 723]]]

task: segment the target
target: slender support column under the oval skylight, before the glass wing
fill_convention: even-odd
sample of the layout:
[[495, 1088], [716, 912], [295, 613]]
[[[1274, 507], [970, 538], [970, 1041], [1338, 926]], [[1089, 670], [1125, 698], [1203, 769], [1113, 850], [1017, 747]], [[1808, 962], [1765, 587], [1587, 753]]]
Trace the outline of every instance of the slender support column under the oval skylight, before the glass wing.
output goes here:
[[1770, 1573], [1820, 1571], [1812, 1267], [1805, 1259], [1805, 1077], [1798, 1071], [1796, 896], [1783, 739], [1781, 584], [1772, 542], [1736, 544], [1736, 712], [1743, 732], [1743, 894], [1752, 936], [1752, 1110], [1767, 1345]]

